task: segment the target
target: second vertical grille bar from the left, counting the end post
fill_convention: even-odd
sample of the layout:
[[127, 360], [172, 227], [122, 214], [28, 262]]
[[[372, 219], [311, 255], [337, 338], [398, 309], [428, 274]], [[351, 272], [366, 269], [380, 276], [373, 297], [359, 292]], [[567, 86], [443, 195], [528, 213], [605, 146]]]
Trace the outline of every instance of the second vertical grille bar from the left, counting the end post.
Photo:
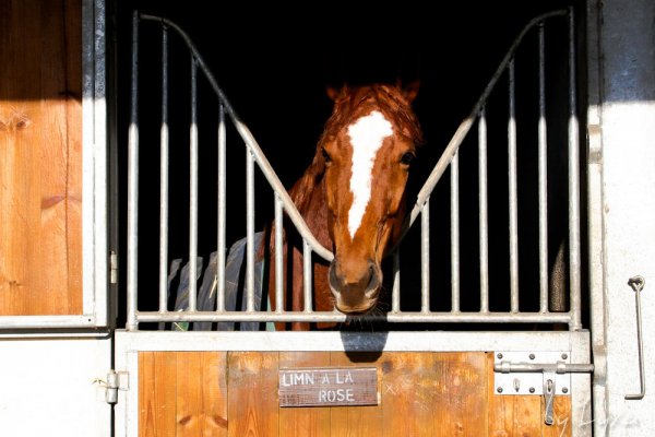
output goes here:
[[159, 129], [159, 311], [168, 303], [168, 27], [162, 26], [162, 127]]

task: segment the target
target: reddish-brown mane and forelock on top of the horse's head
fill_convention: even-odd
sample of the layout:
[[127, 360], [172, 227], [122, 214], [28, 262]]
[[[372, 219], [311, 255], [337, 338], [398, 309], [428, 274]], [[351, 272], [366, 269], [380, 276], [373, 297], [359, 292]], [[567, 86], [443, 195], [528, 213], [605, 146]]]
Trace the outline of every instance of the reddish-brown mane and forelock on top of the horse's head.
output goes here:
[[334, 139], [338, 131], [355, 118], [370, 113], [373, 108], [380, 109], [392, 121], [398, 134], [416, 145], [424, 143], [420, 125], [412, 110], [410, 102], [398, 86], [372, 84], [353, 88], [342, 87], [335, 96], [334, 109], [325, 122], [310, 166], [289, 191], [300, 212], [306, 210], [309, 194], [317, 189], [325, 172], [325, 158], [321, 152], [323, 144]]

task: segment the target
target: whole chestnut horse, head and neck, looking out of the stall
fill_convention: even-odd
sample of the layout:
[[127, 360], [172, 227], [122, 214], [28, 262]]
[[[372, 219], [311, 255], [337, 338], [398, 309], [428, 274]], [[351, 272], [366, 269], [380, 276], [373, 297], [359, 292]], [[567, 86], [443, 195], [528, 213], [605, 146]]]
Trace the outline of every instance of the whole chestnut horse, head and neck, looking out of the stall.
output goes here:
[[[357, 317], [379, 310], [382, 260], [402, 237], [409, 170], [424, 143], [412, 108], [417, 93], [418, 82], [407, 86], [373, 83], [327, 88], [332, 115], [311, 164], [289, 190], [309, 229], [334, 253], [330, 263], [312, 262], [314, 310], [336, 308]], [[269, 296], [275, 309], [273, 225], [269, 229], [264, 245], [271, 260]], [[283, 234], [283, 299], [287, 310], [301, 311], [302, 241], [293, 226], [285, 224]], [[294, 322], [291, 329], [336, 326]], [[276, 323], [276, 329], [284, 330], [286, 326]]]

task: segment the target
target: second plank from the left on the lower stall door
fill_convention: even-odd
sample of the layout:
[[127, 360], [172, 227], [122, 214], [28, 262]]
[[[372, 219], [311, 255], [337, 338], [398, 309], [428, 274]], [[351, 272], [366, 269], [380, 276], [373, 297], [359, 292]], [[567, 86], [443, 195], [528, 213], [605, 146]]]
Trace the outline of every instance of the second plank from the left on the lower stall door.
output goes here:
[[227, 436], [225, 352], [177, 352], [176, 436]]

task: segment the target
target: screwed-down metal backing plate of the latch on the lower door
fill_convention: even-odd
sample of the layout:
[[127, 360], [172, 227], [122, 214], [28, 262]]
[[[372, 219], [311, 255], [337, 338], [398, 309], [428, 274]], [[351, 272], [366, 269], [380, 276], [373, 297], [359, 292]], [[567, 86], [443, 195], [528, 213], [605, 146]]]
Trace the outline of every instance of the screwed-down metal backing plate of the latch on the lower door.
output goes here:
[[[571, 375], [568, 371], [558, 373], [555, 370], [558, 366], [565, 367], [571, 363], [569, 352], [495, 352], [495, 369], [507, 368], [507, 371], [497, 370], [493, 373], [493, 387], [496, 394], [534, 394], [543, 395], [545, 387], [545, 376], [553, 379], [555, 393], [571, 394]], [[529, 371], [510, 370], [514, 366], [532, 367]], [[538, 370], [540, 368], [540, 370]]]

